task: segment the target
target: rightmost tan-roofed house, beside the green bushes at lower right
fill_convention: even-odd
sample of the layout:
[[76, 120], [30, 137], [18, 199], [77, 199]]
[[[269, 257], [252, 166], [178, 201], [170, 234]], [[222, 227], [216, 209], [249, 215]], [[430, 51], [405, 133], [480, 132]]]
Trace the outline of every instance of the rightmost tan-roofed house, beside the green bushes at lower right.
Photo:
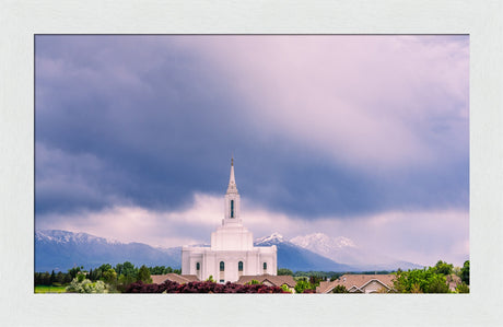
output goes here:
[[393, 289], [395, 275], [342, 275], [335, 281], [323, 281], [316, 293], [330, 293], [337, 285], [343, 285], [350, 293], [379, 293]]

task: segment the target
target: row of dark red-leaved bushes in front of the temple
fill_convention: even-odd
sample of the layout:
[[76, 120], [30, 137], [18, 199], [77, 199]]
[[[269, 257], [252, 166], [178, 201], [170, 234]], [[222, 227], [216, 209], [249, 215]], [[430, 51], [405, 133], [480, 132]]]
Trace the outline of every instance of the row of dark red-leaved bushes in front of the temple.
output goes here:
[[279, 287], [264, 284], [241, 285], [227, 282], [219, 284], [212, 281], [192, 281], [179, 284], [166, 280], [162, 284], [145, 284], [141, 281], [129, 284], [125, 293], [288, 293]]

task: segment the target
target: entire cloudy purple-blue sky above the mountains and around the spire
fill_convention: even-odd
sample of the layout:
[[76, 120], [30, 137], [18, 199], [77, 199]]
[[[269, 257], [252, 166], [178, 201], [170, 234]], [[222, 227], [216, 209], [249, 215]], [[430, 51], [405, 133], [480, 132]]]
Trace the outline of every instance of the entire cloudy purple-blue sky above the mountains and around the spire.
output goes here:
[[36, 229], [208, 243], [232, 155], [256, 237], [460, 266], [469, 38], [36, 36]]

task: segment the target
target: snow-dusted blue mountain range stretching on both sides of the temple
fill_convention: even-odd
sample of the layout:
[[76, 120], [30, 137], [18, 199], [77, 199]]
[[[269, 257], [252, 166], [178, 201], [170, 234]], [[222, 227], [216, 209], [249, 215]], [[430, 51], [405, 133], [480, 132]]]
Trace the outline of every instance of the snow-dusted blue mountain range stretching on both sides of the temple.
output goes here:
[[[273, 233], [255, 240], [254, 245], [276, 245], [278, 267], [292, 271], [363, 271], [420, 267], [388, 258], [379, 265], [362, 265], [353, 256], [365, 258], [365, 253], [360, 250], [351, 240], [346, 237], [331, 240], [321, 233], [297, 236], [291, 241], [279, 233]], [[115, 266], [125, 261], [136, 266], [169, 266], [179, 269], [180, 260], [180, 246], [153, 247], [143, 243], [121, 243], [86, 233], [60, 230], [35, 232], [35, 271], [67, 271], [75, 266], [90, 269], [103, 264]]]

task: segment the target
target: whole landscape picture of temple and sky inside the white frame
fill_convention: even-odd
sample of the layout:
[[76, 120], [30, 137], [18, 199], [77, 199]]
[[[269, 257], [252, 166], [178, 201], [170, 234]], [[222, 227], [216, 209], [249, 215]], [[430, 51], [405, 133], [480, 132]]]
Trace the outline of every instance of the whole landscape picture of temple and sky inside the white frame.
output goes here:
[[35, 293], [469, 292], [468, 35], [36, 35], [34, 79]]

